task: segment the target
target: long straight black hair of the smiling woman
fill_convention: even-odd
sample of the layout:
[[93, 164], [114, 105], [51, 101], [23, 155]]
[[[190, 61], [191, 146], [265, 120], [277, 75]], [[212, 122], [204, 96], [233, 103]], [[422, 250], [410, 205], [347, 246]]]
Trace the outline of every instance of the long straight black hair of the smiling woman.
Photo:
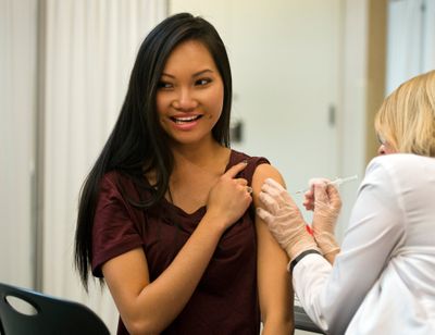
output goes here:
[[173, 154], [159, 123], [156, 95], [169, 55], [186, 40], [200, 41], [211, 53], [220, 72], [224, 83], [224, 101], [212, 136], [221, 145], [229, 147], [232, 74], [225, 46], [206, 20], [189, 13], [172, 15], [157, 25], [142, 41], [119, 119], [82, 187], [75, 233], [75, 265], [86, 289], [92, 258], [94, 218], [103, 175], [116, 170], [132, 178], [138, 189], [145, 189], [145, 173], [154, 172], [156, 184], [148, 189], [151, 198], [136, 203], [142, 208], [154, 206], [167, 190]]

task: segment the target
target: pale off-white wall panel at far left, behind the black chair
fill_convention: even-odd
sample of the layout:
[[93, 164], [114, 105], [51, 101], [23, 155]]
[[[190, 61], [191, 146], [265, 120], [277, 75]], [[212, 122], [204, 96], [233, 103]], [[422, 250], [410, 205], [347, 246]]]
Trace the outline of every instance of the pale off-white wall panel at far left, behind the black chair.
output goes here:
[[37, 0], [0, 0], [0, 282], [32, 287]]

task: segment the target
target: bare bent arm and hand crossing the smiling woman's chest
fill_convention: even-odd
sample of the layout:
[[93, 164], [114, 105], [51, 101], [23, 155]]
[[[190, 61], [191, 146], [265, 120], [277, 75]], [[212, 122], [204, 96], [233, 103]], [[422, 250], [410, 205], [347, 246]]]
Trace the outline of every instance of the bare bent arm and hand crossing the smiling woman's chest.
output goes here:
[[[246, 211], [251, 196], [246, 179], [229, 169], [209, 195], [207, 213], [171, 265], [150, 283], [144, 249], [136, 248], [102, 265], [105, 283], [130, 334], [159, 334], [183, 310], [197, 287], [223, 232]], [[213, 201], [210, 200], [213, 198]]]

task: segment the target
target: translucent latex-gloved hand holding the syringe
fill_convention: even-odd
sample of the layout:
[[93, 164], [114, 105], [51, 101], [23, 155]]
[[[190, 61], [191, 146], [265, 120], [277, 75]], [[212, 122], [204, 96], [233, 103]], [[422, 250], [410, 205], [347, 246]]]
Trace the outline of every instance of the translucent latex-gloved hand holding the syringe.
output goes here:
[[310, 182], [314, 200], [313, 236], [323, 255], [339, 250], [334, 231], [341, 209], [341, 199], [335, 186], [327, 183], [327, 179]]

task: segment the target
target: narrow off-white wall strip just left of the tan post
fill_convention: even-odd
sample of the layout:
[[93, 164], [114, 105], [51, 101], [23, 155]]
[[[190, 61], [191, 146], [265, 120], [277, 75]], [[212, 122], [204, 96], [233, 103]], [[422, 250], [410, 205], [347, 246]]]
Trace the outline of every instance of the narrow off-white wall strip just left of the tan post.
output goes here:
[[343, 238], [357, 190], [365, 171], [365, 101], [368, 86], [368, 9], [369, 0], [345, 0], [343, 26], [343, 69], [340, 101], [340, 175], [357, 174], [358, 183], [341, 187], [343, 209], [337, 236]]

